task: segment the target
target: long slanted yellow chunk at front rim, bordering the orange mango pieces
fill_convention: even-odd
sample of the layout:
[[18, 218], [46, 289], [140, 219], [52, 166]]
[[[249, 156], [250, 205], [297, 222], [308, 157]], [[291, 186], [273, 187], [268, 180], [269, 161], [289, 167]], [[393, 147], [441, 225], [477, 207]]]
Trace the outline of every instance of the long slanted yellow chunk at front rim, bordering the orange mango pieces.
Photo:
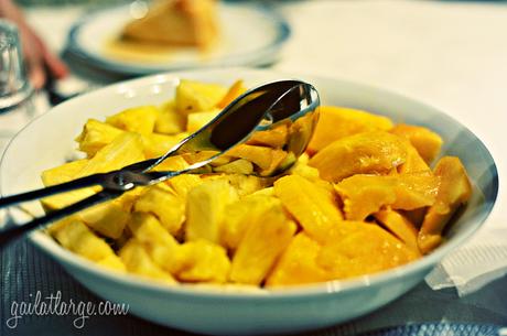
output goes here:
[[296, 225], [282, 208], [267, 212], [248, 226], [233, 258], [230, 280], [261, 284], [295, 234]]

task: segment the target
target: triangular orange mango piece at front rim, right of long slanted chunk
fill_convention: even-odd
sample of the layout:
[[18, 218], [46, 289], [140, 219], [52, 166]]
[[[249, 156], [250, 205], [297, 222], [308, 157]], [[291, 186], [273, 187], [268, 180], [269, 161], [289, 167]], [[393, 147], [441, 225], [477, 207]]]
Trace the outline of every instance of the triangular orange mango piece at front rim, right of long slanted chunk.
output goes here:
[[306, 234], [298, 234], [283, 251], [268, 275], [266, 285], [280, 286], [331, 280], [330, 274], [316, 263], [321, 245]]

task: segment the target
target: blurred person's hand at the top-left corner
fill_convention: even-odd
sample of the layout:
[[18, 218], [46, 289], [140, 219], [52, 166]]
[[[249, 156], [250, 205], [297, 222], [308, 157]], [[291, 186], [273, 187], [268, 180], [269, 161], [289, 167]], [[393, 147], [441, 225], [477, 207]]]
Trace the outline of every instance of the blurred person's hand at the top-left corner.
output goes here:
[[42, 88], [47, 76], [62, 78], [67, 74], [65, 64], [47, 50], [12, 0], [0, 0], [0, 18], [8, 19], [18, 25], [30, 82], [35, 88]]

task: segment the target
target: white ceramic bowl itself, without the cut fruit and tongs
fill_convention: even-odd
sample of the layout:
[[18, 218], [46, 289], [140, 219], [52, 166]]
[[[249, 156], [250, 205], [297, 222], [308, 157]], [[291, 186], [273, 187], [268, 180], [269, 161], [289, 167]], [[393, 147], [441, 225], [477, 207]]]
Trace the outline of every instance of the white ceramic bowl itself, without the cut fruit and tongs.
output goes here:
[[[40, 174], [74, 152], [73, 139], [88, 118], [104, 119], [125, 108], [160, 104], [173, 96], [180, 78], [248, 86], [292, 77], [267, 71], [212, 69], [157, 75], [112, 85], [66, 101], [24, 128], [9, 144], [0, 165], [2, 194], [41, 187]], [[331, 78], [301, 76], [319, 89], [324, 105], [355, 107], [386, 115], [397, 122], [427, 126], [444, 141], [444, 154], [457, 155], [474, 183], [466, 209], [446, 232], [449, 241], [412, 263], [346, 281], [272, 291], [237, 291], [168, 286], [126, 274], [115, 274], [33, 232], [31, 240], [99, 296], [127, 303], [145, 319], [204, 334], [254, 335], [312, 329], [337, 324], [397, 299], [417, 283], [485, 220], [495, 203], [498, 176], [484, 144], [449, 116], [412, 99], [378, 88]], [[36, 206], [33, 210], [42, 214]]]

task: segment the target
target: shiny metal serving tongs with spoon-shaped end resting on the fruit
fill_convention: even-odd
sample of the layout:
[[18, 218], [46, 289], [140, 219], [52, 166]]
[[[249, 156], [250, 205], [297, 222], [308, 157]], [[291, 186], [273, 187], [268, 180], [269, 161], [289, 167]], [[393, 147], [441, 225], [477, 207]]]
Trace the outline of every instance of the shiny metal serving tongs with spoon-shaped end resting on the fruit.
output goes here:
[[[255, 132], [267, 131], [284, 122], [289, 127], [289, 137], [283, 147], [292, 162], [272, 170], [279, 174], [289, 169], [305, 150], [317, 120], [320, 98], [316, 89], [300, 80], [281, 80], [254, 88], [227, 106], [215, 119], [194, 134], [182, 140], [164, 155], [128, 165], [121, 170], [94, 174], [67, 183], [7, 196], [0, 198], [0, 208], [18, 203], [34, 200], [55, 194], [99, 185], [103, 191], [62, 209], [46, 214], [21, 225], [10, 225], [0, 229], [0, 246], [21, 235], [46, 226], [93, 205], [117, 198], [137, 186], [160, 183], [184, 173], [195, 172], [226, 153], [233, 147], [246, 142]], [[201, 158], [185, 170], [159, 172], [152, 171], [169, 156], [203, 152], [209, 155]]]

